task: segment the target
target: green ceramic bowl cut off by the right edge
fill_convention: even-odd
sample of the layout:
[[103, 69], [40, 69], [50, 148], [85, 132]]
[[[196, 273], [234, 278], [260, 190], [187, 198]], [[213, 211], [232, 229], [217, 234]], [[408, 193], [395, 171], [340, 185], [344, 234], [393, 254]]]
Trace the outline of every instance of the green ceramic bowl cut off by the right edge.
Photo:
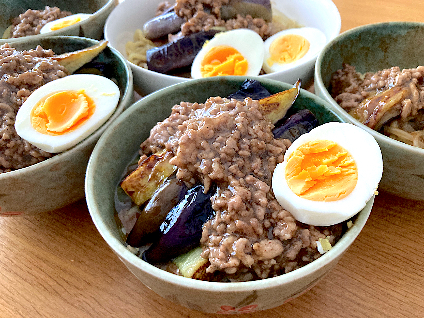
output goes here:
[[332, 104], [337, 114], [368, 131], [383, 156], [379, 189], [403, 198], [424, 201], [424, 149], [391, 139], [363, 125], [331, 97], [327, 88], [336, 70], [348, 63], [357, 72], [376, 72], [392, 66], [424, 64], [424, 23], [383, 22], [343, 32], [324, 47], [315, 64], [315, 94]]

